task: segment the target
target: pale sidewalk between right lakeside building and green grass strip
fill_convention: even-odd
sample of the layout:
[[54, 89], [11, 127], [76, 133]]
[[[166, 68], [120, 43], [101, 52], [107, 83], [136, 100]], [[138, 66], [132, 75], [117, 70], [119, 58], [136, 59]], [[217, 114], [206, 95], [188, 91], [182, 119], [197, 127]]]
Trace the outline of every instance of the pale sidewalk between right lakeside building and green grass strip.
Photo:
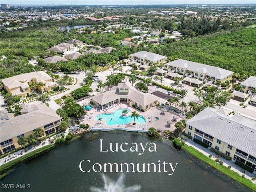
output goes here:
[[[215, 156], [217, 156], [214, 152], [211, 152], [209, 149], [204, 148], [203, 146], [195, 143], [193, 140], [188, 139], [186, 140], [185, 144], [187, 144], [188, 146], [191, 146], [193, 148], [195, 148], [196, 150], [198, 150], [199, 152], [201, 152], [202, 154], [209, 156], [209, 154], [212, 154], [211, 159], [215, 160]], [[230, 160], [226, 160], [224, 158], [222, 158], [221, 156], [219, 156], [219, 159], [222, 160], [224, 162], [223, 166], [228, 167], [229, 165], [231, 165], [232, 167], [230, 168], [231, 170], [233, 170], [234, 172], [237, 172], [239, 175], [244, 175], [245, 178], [249, 179], [252, 181], [252, 177], [256, 177], [255, 174], [248, 172], [247, 170], [245, 171], [245, 173], [242, 172], [243, 168], [241, 168], [240, 166], [236, 165], [235, 163], [233, 163]], [[252, 181], [253, 183], [255, 183], [255, 181]]]

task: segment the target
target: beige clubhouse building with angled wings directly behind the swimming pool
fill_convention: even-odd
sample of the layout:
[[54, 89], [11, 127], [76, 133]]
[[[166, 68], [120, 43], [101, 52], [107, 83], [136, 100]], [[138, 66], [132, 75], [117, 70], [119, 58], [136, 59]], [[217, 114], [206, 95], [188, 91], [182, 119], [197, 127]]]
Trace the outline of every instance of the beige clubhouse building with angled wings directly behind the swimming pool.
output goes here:
[[121, 101], [127, 102], [129, 106], [135, 105], [136, 108], [146, 111], [158, 104], [158, 97], [133, 90], [125, 83], [119, 83], [112, 90], [92, 97], [92, 102], [97, 106], [100, 105], [102, 110], [103, 106], [108, 107]]

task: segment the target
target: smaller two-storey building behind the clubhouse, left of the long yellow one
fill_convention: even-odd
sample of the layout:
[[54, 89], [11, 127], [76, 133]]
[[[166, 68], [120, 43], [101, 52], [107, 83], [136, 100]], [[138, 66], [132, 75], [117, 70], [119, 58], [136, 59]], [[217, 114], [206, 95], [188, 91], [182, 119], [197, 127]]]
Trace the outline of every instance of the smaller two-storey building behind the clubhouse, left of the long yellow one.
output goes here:
[[151, 53], [147, 51], [141, 51], [138, 53], [130, 54], [130, 61], [135, 61], [138, 63], [152, 65], [155, 63], [166, 63], [166, 56], [162, 56], [156, 53]]

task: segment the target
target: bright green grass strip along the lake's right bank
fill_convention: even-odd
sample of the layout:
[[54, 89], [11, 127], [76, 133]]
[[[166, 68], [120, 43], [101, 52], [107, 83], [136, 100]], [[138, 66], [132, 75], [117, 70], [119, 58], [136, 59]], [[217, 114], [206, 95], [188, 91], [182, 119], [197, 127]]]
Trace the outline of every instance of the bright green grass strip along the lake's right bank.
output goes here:
[[236, 181], [244, 184], [248, 188], [256, 191], [256, 184], [254, 184], [249, 179], [242, 178], [242, 176], [240, 176], [237, 172], [234, 172], [233, 170], [230, 170], [226, 166], [223, 166], [223, 165], [220, 165], [220, 164], [216, 163], [214, 160], [212, 160], [209, 157], [205, 156], [204, 154], [202, 154], [201, 152], [199, 152], [198, 150], [196, 150], [193, 147], [190, 147], [188, 145], [184, 145], [182, 148], [184, 150], [186, 150], [187, 152], [189, 152], [190, 154], [198, 157], [200, 160], [203, 160], [204, 162], [210, 164], [211, 166], [213, 166], [214, 168], [216, 168], [219, 171], [223, 172], [224, 174], [230, 176], [234, 180], [236, 180]]

